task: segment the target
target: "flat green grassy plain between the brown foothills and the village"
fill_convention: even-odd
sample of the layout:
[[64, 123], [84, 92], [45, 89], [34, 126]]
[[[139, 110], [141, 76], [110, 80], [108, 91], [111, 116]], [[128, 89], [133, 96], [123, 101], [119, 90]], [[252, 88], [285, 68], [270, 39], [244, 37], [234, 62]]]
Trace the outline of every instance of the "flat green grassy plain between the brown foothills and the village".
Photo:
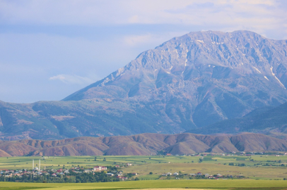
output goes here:
[[[96, 157], [96, 161], [95, 161]], [[31, 169], [32, 160], [35, 166], [41, 157], [8, 157], [0, 158], [0, 170]], [[124, 173], [137, 172], [139, 179], [158, 179], [166, 172], [192, 174], [202, 172], [209, 175], [242, 175], [245, 179], [279, 179], [287, 178], [287, 156], [204, 156], [199, 163], [199, 156], [49, 156], [41, 160], [41, 168], [70, 168], [80, 166], [91, 168], [95, 165], [125, 165], [121, 167]], [[105, 160], [105, 161], [104, 161]], [[231, 166], [244, 163], [245, 166]], [[284, 165], [284, 166], [281, 166]], [[153, 172], [153, 175], [148, 175]], [[160, 177], [165, 179], [166, 177]], [[184, 177], [188, 179], [188, 175]]]

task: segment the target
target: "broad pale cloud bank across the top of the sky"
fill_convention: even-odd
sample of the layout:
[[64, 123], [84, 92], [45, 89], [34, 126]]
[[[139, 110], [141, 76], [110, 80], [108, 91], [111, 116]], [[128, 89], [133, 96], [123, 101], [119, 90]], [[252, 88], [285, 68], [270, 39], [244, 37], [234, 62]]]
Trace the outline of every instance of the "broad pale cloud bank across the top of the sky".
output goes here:
[[286, 30], [286, 5], [279, 0], [0, 0], [0, 23], [199, 25], [266, 33]]

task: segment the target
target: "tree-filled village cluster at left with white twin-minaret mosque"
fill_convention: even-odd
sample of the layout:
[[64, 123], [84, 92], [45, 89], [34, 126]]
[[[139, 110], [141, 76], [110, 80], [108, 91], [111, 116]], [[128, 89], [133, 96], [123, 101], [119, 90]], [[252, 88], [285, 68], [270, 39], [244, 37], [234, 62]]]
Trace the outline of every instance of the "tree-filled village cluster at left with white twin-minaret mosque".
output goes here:
[[[131, 166], [127, 163], [126, 166]], [[81, 182], [88, 178], [90, 182], [119, 182], [125, 180], [139, 180], [134, 179], [137, 173], [124, 174], [118, 170], [119, 165], [111, 166], [95, 166], [90, 169], [83, 167], [71, 167], [70, 169], [60, 168], [44, 168], [34, 167], [33, 170], [1, 170], [0, 182], [34, 182], [44, 180], [45, 182]], [[72, 180], [74, 179], [74, 180]], [[78, 180], [77, 180], [78, 179]]]

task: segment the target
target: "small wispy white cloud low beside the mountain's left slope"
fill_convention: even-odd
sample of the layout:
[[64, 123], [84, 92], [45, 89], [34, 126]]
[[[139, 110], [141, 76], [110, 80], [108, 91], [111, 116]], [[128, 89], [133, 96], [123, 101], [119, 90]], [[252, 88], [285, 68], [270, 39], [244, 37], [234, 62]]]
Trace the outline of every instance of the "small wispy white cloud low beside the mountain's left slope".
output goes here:
[[49, 80], [59, 80], [66, 84], [90, 84], [94, 82], [92, 79], [88, 77], [81, 77], [78, 75], [64, 75], [64, 74], [49, 77]]

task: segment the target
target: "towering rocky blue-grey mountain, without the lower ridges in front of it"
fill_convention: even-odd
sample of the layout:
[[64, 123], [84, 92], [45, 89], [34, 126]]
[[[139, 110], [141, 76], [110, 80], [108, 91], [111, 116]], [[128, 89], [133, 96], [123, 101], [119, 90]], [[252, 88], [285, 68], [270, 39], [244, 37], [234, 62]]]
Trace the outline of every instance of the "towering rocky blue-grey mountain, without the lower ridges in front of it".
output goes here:
[[[129, 99], [201, 127], [286, 101], [287, 41], [247, 31], [175, 37], [64, 101]], [[185, 121], [184, 121], [185, 120]]]

